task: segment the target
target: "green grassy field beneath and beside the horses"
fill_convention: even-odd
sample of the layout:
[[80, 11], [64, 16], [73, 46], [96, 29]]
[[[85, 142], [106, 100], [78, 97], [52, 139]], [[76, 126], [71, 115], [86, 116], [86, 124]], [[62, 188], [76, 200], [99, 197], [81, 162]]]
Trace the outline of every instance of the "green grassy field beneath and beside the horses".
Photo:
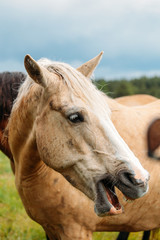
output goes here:
[[[115, 240], [118, 233], [94, 233], [94, 240]], [[142, 232], [129, 240], [140, 240]], [[43, 229], [26, 214], [14, 184], [9, 160], [0, 152], [0, 240], [45, 240]]]

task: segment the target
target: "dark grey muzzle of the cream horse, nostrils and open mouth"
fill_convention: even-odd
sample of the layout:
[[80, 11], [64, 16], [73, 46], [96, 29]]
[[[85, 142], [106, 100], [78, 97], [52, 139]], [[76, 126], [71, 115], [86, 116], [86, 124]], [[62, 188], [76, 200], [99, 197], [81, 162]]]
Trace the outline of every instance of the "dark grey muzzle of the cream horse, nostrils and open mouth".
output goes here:
[[131, 172], [120, 171], [116, 176], [105, 174], [96, 181], [95, 213], [100, 216], [117, 215], [123, 212], [115, 192], [117, 187], [126, 199], [135, 200], [148, 191], [148, 180], [136, 179]]

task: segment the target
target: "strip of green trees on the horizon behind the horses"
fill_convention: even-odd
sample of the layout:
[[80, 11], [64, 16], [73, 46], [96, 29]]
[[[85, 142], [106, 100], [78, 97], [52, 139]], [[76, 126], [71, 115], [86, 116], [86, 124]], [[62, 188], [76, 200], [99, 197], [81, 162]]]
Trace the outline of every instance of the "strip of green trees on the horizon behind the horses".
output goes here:
[[132, 80], [95, 80], [95, 85], [112, 98], [134, 95], [149, 94], [160, 98], [160, 77], [141, 77]]

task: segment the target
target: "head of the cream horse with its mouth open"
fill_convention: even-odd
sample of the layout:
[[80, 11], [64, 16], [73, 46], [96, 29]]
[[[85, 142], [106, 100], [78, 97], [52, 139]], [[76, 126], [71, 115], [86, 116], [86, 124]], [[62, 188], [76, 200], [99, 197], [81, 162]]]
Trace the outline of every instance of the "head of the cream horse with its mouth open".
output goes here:
[[[122, 212], [115, 186], [127, 198], [142, 197], [149, 174], [115, 129], [106, 96], [89, 79], [101, 55], [78, 69], [27, 55], [29, 76], [20, 95], [34, 85], [36, 98], [39, 89], [29, 136], [35, 138], [40, 159], [92, 199], [98, 216], [105, 216]], [[17, 103], [25, 104], [20, 95]]]

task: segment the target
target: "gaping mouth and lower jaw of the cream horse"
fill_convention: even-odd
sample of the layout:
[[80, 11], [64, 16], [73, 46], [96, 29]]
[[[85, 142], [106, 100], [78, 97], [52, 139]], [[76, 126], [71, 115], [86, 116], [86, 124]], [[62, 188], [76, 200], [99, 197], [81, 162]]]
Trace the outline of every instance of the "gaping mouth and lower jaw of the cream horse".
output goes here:
[[113, 183], [108, 179], [98, 181], [96, 192], [95, 213], [98, 216], [103, 217], [122, 213], [122, 207], [115, 193]]

